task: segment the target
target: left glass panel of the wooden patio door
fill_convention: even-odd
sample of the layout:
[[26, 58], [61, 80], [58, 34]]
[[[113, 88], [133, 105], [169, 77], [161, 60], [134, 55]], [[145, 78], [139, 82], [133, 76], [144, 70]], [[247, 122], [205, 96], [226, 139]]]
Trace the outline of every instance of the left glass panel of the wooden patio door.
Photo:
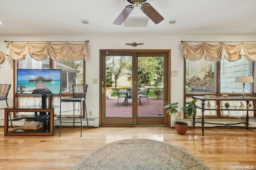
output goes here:
[[132, 56], [106, 56], [106, 117], [132, 117]]

